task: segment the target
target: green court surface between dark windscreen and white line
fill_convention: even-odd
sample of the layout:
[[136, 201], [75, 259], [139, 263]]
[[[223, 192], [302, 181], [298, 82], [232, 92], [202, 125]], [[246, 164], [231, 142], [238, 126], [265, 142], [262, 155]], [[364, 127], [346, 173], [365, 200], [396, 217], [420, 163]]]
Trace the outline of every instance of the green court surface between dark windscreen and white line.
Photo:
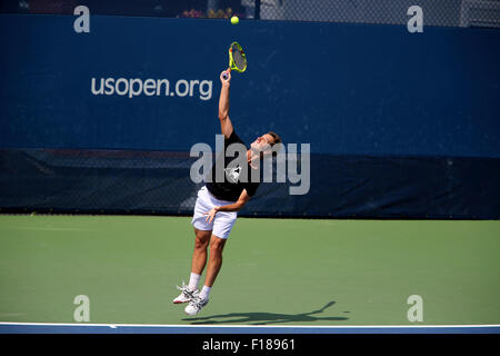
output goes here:
[[0, 216], [0, 322], [74, 323], [78, 295], [108, 324], [500, 320], [500, 221], [239, 218], [197, 317], [171, 303], [192, 247], [189, 217]]

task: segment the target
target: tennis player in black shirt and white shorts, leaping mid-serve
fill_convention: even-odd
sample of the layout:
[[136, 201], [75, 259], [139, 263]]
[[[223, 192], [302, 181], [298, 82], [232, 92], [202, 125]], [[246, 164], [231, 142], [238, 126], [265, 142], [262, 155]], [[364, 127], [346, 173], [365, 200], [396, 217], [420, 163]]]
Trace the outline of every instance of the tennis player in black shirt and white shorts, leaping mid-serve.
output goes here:
[[[224, 73], [228, 73], [226, 79], [222, 76]], [[224, 136], [226, 152], [226, 149], [231, 144], [244, 144], [236, 134], [229, 119], [229, 87], [231, 81], [229, 70], [221, 72], [220, 81], [222, 87], [219, 98], [219, 120], [222, 135]], [[224, 174], [222, 179], [219, 179], [220, 181], [217, 179], [216, 167], [218, 165], [216, 164], [209, 172], [211, 179], [206, 179], [204, 187], [198, 191], [194, 216], [191, 221], [196, 235], [191, 275], [187, 286], [182, 283], [182, 287], [178, 287], [182, 293], [173, 299], [174, 304], [189, 303], [184, 309], [186, 314], [194, 316], [208, 304], [210, 289], [222, 265], [222, 250], [236, 222], [238, 210], [256, 195], [259, 186], [260, 179], [253, 179], [252, 181], [254, 176], [251, 175], [251, 171], [260, 169], [260, 159], [272, 154], [272, 146], [279, 142], [281, 142], [281, 139], [274, 132], [268, 132], [258, 137], [250, 145], [246, 157], [243, 157], [243, 164], [248, 167], [231, 167], [230, 162], [234, 160], [234, 157], [226, 157], [227, 155], [222, 152], [217, 158], [218, 160], [223, 160]], [[246, 146], [243, 148], [247, 149]], [[246, 172], [247, 179], [243, 179]], [[207, 265], [207, 249], [209, 246], [210, 256]], [[206, 265], [207, 275], [203, 288], [200, 291], [198, 283]]]

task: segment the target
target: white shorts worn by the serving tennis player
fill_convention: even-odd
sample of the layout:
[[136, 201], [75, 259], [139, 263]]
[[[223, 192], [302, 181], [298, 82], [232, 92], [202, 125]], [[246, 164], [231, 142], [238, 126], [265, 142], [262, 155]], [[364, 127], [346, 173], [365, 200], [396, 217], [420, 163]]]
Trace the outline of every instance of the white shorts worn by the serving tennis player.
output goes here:
[[231, 205], [234, 201], [219, 200], [210, 194], [206, 186], [198, 190], [197, 204], [194, 205], [194, 216], [191, 224], [194, 228], [204, 231], [212, 231], [217, 237], [227, 239], [231, 233], [232, 226], [236, 222], [237, 211], [217, 211], [216, 218], [212, 222], [206, 221], [210, 209], [224, 205]]

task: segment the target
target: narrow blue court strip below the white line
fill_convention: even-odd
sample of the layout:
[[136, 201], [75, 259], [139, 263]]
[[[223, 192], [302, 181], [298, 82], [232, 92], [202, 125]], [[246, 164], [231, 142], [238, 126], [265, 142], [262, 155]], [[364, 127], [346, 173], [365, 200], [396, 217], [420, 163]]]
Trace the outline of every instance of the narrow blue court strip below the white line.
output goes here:
[[500, 325], [304, 327], [0, 323], [0, 334], [500, 334]]

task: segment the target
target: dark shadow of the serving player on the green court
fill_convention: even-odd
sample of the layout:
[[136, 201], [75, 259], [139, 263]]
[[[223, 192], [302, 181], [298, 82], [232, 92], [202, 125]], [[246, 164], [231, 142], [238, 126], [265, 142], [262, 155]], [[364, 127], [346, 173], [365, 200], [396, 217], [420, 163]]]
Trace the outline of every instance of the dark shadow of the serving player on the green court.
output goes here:
[[[277, 323], [303, 323], [303, 322], [339, 322], [348, 320], [347, 317], [321, 317], [318, 314], [323, 313], [331, 307], [336, 301], [327, 303], [322, 308], [302, 314], [276, 314], [276, 313], [230, 313], [211, 315], [207, 317], [186, 318], [182, 320], [193, 322], [193, 325], [202, 324], [228, 324], [228, 323], [251, 323], [251, 325], [268, 325]], [[349, 312], [343, 312], [349, 313]], [[220, 320], [222, 319], [222, 320]]]

